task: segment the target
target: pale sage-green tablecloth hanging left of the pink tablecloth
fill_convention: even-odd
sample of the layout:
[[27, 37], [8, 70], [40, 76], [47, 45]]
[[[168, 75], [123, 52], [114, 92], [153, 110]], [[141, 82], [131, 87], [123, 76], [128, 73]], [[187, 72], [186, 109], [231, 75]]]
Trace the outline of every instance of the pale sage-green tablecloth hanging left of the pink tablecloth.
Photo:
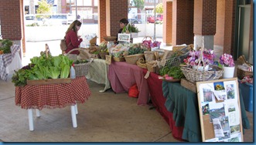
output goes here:
[[105, 92], [107, 89], [111, 88], [111, 84], [108, 80], [108, 64], [106, 64], [105, 59], [94, 59], [90, 62], [86, 77], [95, 83], [105, 85], [104, 89], [100, 90], [100, 92]]

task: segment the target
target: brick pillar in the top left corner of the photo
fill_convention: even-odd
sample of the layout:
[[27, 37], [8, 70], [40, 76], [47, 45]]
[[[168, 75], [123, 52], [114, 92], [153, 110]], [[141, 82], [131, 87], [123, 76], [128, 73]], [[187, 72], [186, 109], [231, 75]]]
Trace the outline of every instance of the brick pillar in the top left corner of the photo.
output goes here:
[[2, 39], [10, 39], [25, 48], [23, 0], [0, 0], [0, 3]]

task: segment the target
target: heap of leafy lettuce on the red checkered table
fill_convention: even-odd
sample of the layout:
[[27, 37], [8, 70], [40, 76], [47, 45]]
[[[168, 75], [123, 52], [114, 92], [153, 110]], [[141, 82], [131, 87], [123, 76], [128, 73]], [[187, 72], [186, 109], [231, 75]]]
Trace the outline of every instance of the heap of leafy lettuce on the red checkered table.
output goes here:
[[31, 63], [19, 69], [12, 76], [12, 83], [15, 86], [26, 86], [27, 80], [39, 79], [64, 79], [70, 75], [70, 66], [73, 60], [67, 56], [51, 56], [46, 58], [45, 52], [40, 53], [41, 56], [30, 59]]

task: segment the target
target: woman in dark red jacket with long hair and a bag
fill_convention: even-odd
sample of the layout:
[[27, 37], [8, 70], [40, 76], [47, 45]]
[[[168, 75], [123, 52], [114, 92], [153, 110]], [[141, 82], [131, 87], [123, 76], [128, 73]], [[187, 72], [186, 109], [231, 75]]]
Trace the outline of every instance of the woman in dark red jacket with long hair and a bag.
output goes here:
[[[81, 42], [83, 42], [83, 39], [80, 38], [79, 35], [77, 35], [78, 30], [80, 29], [81, 22], [78, 20], [75, 20], [70, 24], [70, 27], [67, 29], [66, 32], [66, 45], [67, 49], [65, 52], [70, 52], [72, 49], [78, 49]], [[73, 52], [70, 52], [68, 57], [72, 60], [77, 60], [77, 55], [79, 55], [78, 50], [74, 50]]]

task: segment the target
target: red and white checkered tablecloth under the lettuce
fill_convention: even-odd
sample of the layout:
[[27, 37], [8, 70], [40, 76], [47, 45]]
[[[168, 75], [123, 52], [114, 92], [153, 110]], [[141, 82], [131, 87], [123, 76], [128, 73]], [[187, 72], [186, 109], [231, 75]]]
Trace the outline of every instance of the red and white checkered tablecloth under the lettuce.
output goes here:
[[85, 103], [90, 97], [85, 76], [72, 79], [71, 83], [32, 85], [15, 88], [15, 105], [22, 109], [63, 108]]

